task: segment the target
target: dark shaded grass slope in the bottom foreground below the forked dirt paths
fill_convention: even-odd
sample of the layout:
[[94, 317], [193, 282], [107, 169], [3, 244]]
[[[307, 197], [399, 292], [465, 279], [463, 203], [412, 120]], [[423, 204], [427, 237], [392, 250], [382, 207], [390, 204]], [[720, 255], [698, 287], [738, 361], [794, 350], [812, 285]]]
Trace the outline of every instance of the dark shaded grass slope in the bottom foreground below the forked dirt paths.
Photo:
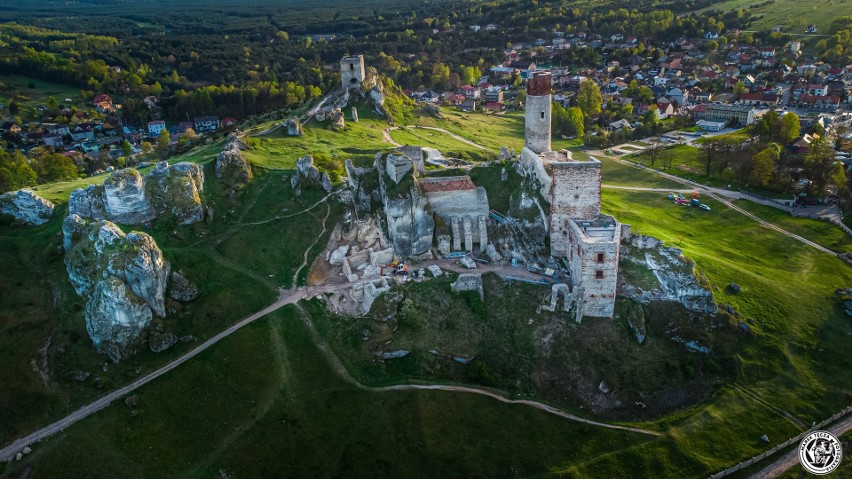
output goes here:
[[138, 395], [138, 406], [113, 404], [37, 445], [7, 472], [32, 463], [33, 478], [211, 477], [220, 470], [240, 477], [535, 476], [653, 441], [477, 395], [358, 389], [329, 366], [293, 307]]

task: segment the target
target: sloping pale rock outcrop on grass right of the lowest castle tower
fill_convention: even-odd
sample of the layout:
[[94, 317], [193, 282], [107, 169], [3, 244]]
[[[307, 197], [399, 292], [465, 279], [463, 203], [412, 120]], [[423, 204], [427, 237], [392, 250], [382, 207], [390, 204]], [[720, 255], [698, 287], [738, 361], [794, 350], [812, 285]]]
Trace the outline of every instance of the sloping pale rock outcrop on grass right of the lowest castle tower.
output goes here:
[[695, 263], [678, 248], [651, 236], [631, 235], [619, 256], [618, 294], [648, 304], [676, 301], [685, 308], [716, 314], [713, 293], [696, 277]]

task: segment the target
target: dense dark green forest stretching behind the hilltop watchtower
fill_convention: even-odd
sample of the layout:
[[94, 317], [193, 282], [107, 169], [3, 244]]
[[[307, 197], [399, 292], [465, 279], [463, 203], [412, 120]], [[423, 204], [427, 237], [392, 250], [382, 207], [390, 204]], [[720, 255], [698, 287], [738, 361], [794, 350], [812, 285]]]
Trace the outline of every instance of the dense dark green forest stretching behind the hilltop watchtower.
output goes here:
[[[60, 81], [84, 96], [120, 95], [127, 119], [136, 124], [150, 119], [142, 106], [150, 95], [160, 99], [167, 119], [245, 118], [292, 108], [334, 88], [339, 76], [324, 66], [345, 54], [365, 54], [403, 88], [451, 88], [502, 61], [507, 45], [534, 41], [542, 30], [588, 28], [673, 40], [749, 20], [742, 11], [676, 15], [710, 0], [640, 0], [631, 10], [565, 0], [403, 1], [390, 10], [378, 0], [315, 3], [256, 1], [235, 8], [178, 2], [163, 10], [147, 2], [36, 2], [23, 8], [4, 0], [0, 21], [9, 23], [0, 24], [0, 74]], [[97, 5], [97, 14], [89, 15], [86, 4]], [[474, 22], [500, 29], [472, 32], [467, 26]], [[600, 60], [593, 50], [555, 59], [576, 67]]]

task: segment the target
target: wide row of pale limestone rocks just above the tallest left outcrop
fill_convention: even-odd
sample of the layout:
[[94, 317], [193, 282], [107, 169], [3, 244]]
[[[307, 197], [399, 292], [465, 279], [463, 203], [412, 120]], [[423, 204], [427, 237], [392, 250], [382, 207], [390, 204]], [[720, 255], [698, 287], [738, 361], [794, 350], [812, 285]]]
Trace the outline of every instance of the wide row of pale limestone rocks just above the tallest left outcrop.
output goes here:
[[204, 171], [188, 162], [157, 164], [146, 178], [133, 168], [118, 170], [103, 186], [71, 192], [68, 213], [92, 220], [142, 224], [175, 218], [180, 224], [204, 219]]

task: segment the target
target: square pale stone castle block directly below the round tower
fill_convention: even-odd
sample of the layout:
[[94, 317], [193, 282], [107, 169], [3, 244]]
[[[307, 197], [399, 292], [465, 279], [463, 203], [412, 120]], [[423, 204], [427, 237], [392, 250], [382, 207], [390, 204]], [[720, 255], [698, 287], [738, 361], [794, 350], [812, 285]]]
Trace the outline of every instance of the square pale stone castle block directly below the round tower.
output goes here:
[[589, 161], [553, 163], [550, 195], [550, 248], [564, 256], [571, 219], [596, 219], [601, 213], [601, 164]]

